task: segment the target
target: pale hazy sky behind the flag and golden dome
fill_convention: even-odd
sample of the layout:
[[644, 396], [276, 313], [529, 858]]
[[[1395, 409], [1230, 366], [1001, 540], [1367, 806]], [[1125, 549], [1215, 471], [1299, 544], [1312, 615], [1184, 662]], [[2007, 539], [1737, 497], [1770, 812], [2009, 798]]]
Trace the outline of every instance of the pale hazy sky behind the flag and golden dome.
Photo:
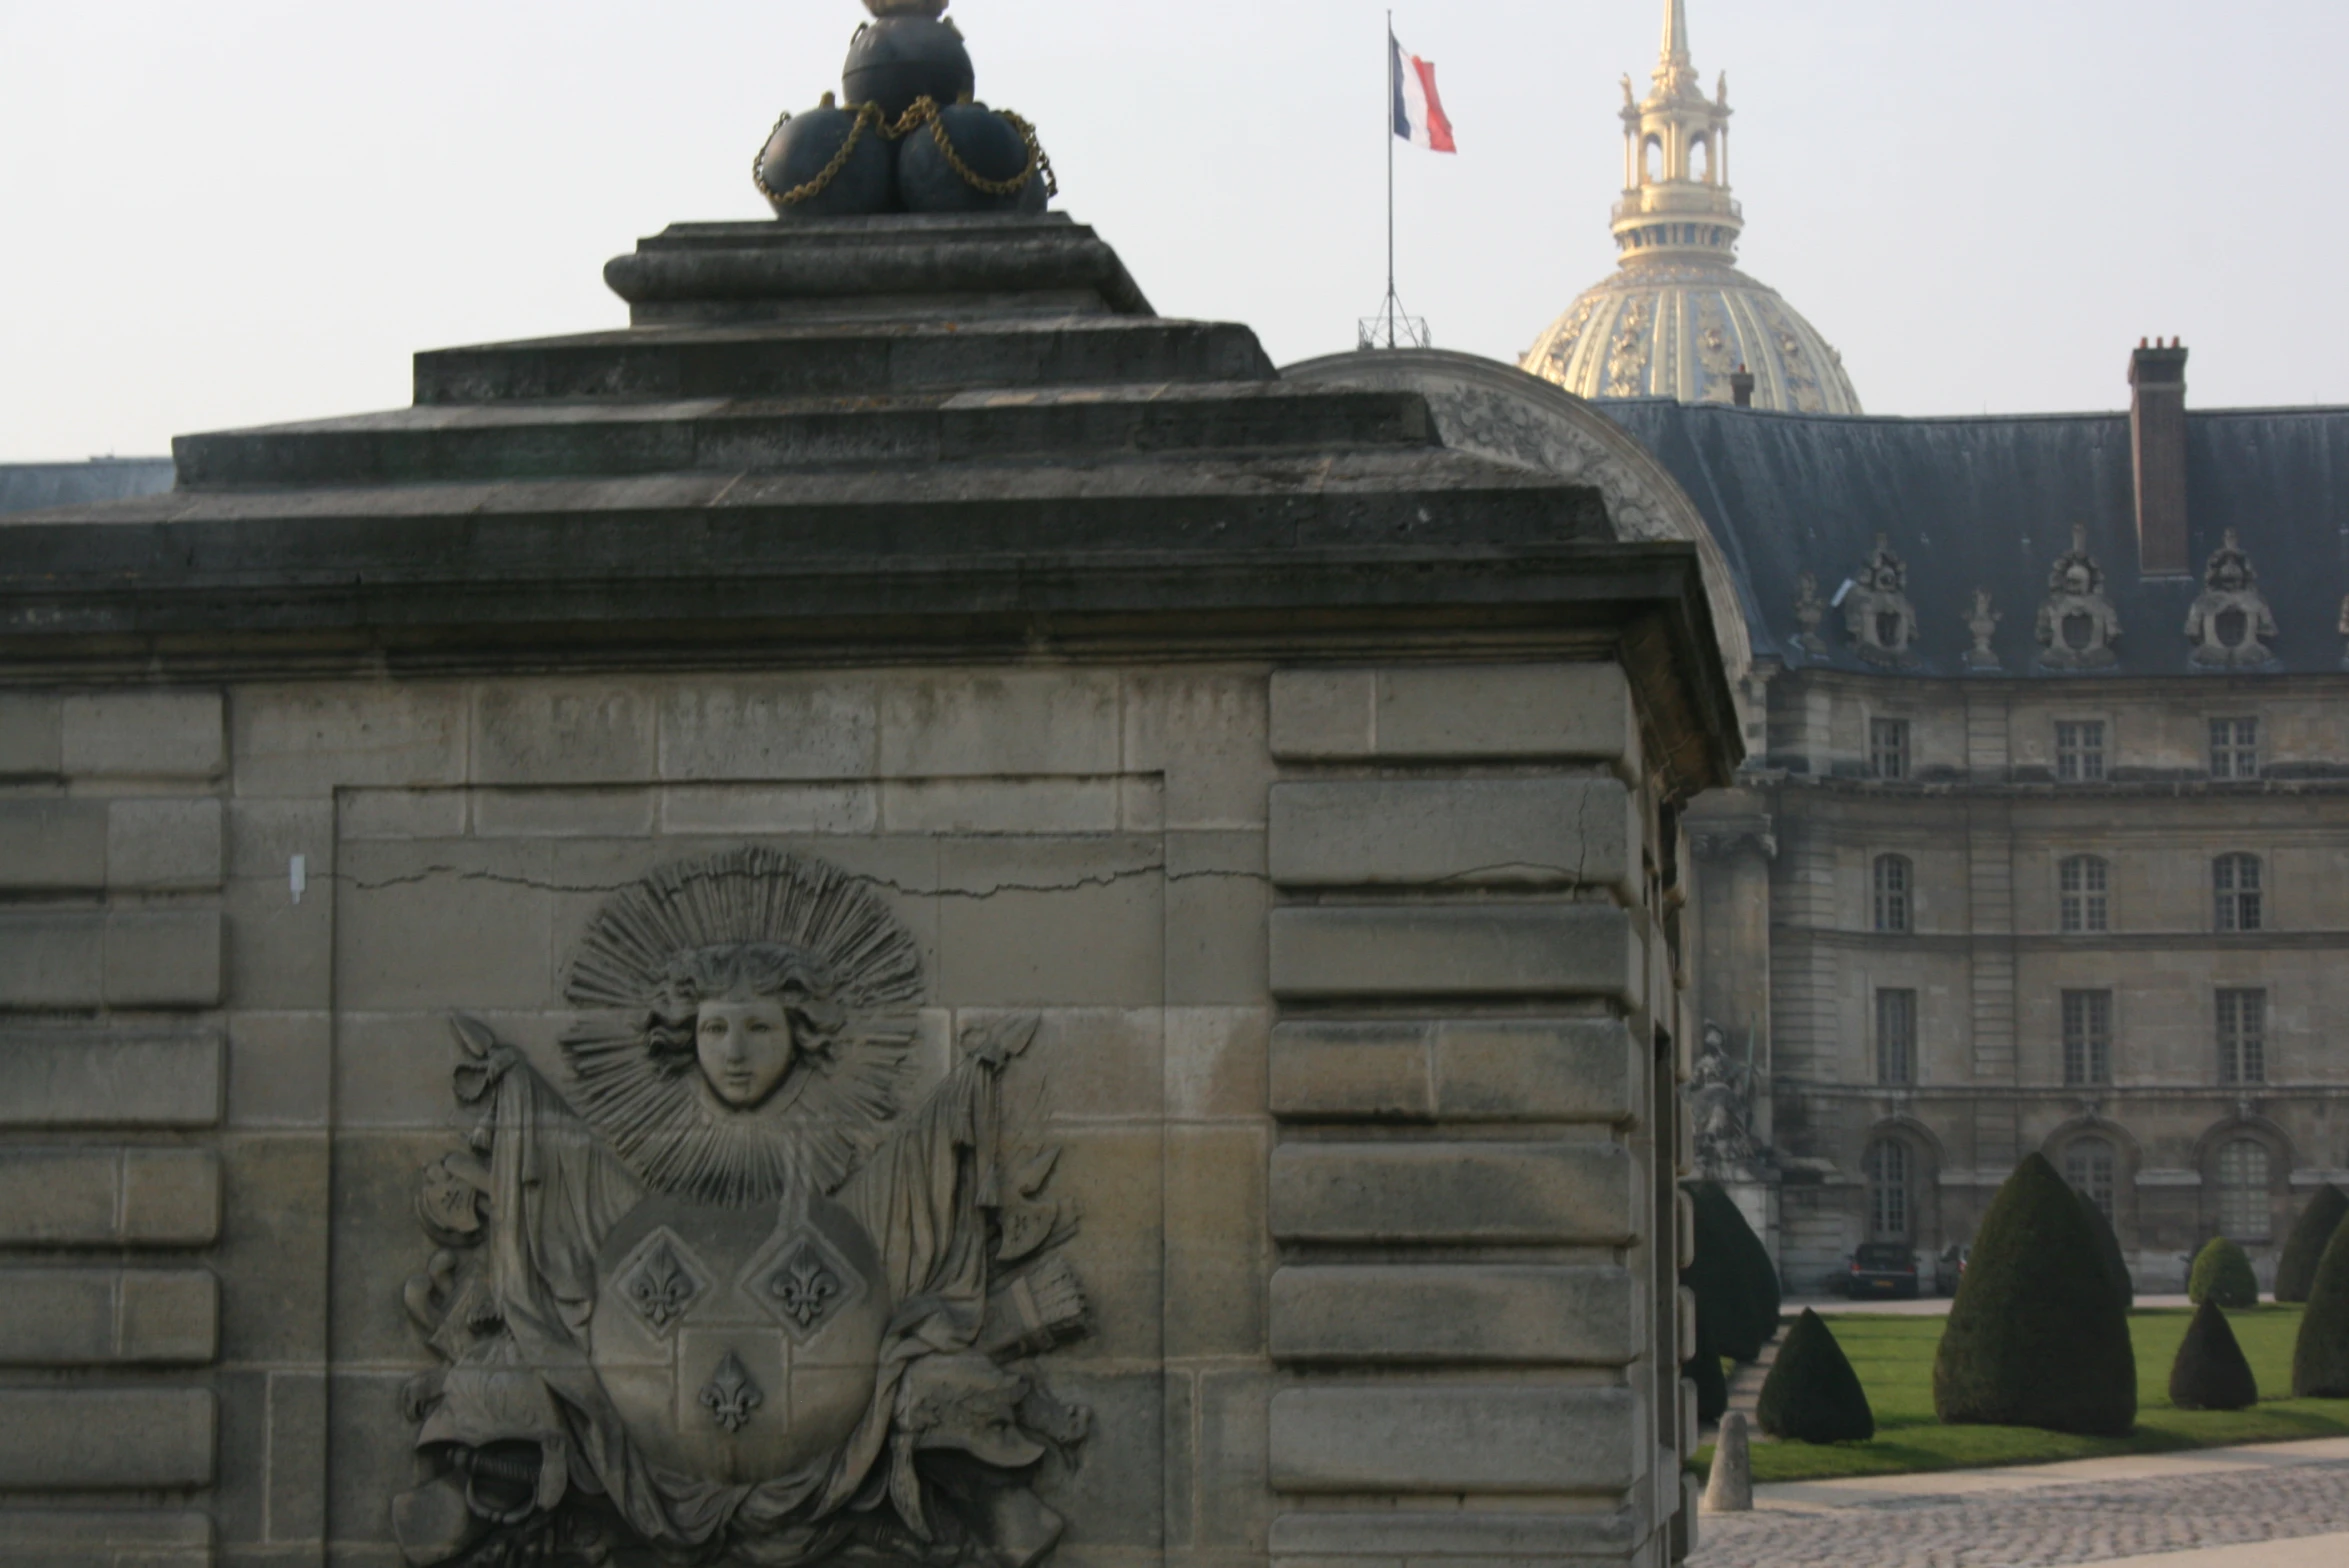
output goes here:
[[[956, 0], [980, 96], [1163, 315], [1276, 361], [1384, 291], [1384, 5]], [[1663, 0], [1398, 0], [1461, 155], [1400, 150], [1402, 293], [1515, 359], [1614, 265]], [[601, 265], [763, 218], [857, 0], [0, 0], [0, 462], [409, 401], [409, 354], [615, 326]], [[2340, 0], [1689, 0], [1741, 265], [1870, 413], [2349, 404]]]

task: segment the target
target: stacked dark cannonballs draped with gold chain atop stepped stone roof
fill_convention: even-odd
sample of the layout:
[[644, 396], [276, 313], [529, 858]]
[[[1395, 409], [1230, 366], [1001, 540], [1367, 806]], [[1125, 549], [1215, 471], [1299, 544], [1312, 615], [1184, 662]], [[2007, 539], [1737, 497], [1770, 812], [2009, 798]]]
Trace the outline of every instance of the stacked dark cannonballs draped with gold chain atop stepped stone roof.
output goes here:
[[1043, 211], [1059, 195], [1036, 127], [972, 101], [949, 0], [864, 0], [841, 99], [785, 115], [752, 164], [778, 218]]

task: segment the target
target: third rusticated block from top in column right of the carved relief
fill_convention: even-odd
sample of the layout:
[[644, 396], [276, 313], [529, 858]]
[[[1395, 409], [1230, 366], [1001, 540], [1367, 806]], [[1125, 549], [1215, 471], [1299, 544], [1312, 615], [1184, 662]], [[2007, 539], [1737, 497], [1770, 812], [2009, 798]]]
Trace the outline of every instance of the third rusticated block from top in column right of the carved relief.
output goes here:
[[1273, 911], [1273, 995], [1604, 995], [1637, 1005], [1644, 955], [1611, 904]]

